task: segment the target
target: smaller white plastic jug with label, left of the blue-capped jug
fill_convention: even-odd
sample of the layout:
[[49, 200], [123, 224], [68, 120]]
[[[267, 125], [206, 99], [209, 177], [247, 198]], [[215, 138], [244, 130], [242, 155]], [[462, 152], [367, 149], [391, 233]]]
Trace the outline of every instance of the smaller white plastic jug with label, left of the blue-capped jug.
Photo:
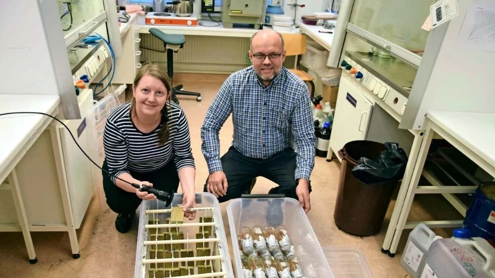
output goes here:
[[409, 234], [406, 249], [401, 258], [401, 265], [413, 278], [418, 278], [426, 261], [426, 252], [431, 243], [438, 239], [433, 231], [423, 223], [418, 224]]

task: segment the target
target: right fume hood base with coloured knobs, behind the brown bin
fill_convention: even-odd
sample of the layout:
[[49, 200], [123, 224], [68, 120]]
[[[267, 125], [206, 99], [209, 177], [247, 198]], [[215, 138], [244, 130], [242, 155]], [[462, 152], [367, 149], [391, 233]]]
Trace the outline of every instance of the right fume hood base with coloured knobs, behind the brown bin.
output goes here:
[[399, 59], [359, 51], [345, 51], [340, 67], [344, 78], [340, 79], [330, 149], [336, 153], [345, 143], [370, 140], [399, 143], [409, 155], [413, 135], [398, 126], [417, 69]]

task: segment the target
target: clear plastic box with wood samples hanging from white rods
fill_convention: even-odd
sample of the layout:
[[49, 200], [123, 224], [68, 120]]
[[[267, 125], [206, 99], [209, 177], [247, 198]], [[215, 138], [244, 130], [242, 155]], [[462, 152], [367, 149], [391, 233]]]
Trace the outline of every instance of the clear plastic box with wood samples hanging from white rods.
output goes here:
[[[175, 194], [172, 206], [180, 204], [182, 194]], [[210, 193], [196, 193], [196, 206], [194, 220], [184, 218], [183, 224], [167, 224], [171, 206], [165, 207], [165, 203], [158, 200], [141, 203], [134, 278], [234, 277], [217, 198]], [[157, 233], [156, 229], [162, 230]], [[176, 229], [182, 232], [184, 240], [167, 238], [172, 237], [168, 232], [176, 232]], [[159, 238], [162, 233], [163, 238]], [[181, 243], [183, 246], [179, 246]], [[160, 253], [160, 250], [168, 251]], [[188, 254], [187, 250], [192, 253]], [[204, 273], [204, 265], [210, 267], [208, 273]], [[199, 274], [200, 267], [202, 274]]]

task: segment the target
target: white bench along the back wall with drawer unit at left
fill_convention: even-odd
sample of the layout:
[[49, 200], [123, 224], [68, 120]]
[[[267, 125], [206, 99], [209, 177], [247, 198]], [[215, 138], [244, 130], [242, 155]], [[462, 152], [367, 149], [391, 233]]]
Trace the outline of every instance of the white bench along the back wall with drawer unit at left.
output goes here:
[[[146, 25], [143, 16], [136, 14], [130, 16], [129, 21], [121, 23], [120, 26], [123, 52], [122, 57], [117, 58], [116, 61], [117, 70], [112, 81], [116, 84], [132, 84], [137, 70], [141, 67], [140, 61], [165, 62], [165, 52], [140, 49], [140, 45], [144, 48], [151, 46], [154, 49], [163, 49], [163, 42], [150, 34], [150, 28], [157, 28], [168, 34], [188, 36], [184, 48], [175, 54], [177, 55], [177, 58], [174, 58], [175, 72], [181, 71], [181, 63], [188, 69], [197, 68], [191, 64], [218, 63], [218, 66], [210, 66], [210, 68], [213, 67], [219, 72], [225, 73], [225, 71], [229, 71], [224, 69], [225, 64], [228, 65], [230, 62], [236, 65], [245, 63], [244, 57], [249, 48], [249, 38], [258, 31], [253, 28], [224, 28], [221, 23], [219, 26]], [[216, 23], [206, 22], [205, 24], [214, 25]], [[140, 34], [142, 35], [139, 36]], [[222, 54], [217, 58], [215, 54], [211, 54], [217, 51], [229, 54]], [[230, 71], [235, 70], [238, 70], [238, 67], [232, 67]]]

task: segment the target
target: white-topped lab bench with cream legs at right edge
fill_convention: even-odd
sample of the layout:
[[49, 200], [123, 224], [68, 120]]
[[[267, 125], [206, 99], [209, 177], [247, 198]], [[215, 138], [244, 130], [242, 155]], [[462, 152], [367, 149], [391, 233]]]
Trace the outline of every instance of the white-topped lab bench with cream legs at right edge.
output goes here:
[[[419, 223], [431, 228], [462, 225], [462, 220], [438, 220], [407, 222], [416, 194], [472, 193], [476, 186], [418, 186], [423, 173], [432, 139], [442, 138], [475, 162], [486, 173], [495, 177], [495, 113], [430, 111], [426, 115], [425, 134], [418, 158], [415, 160], [411, 182], [407, 188], [404, 205], [400, 210], [390, 252], [394, 253], [404, 229], [413, 229]], [[393, 223], [390, 223], [393, 225]]]

